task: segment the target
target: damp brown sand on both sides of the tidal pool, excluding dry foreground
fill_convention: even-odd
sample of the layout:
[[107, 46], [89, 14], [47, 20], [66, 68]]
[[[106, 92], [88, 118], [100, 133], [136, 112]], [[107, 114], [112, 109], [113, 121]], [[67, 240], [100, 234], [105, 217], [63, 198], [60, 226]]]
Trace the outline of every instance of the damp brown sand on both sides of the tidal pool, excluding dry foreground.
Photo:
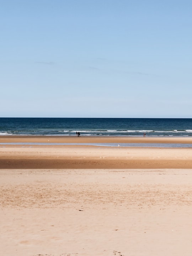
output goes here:
[[[189, 169], [191, 148], [134, 148], [90, 145], [27, 145], [27, 143], [192, 143], [191, 138], [1, 136], [3, 169]], [[191, 144], [192, 145], [192, 144]]]

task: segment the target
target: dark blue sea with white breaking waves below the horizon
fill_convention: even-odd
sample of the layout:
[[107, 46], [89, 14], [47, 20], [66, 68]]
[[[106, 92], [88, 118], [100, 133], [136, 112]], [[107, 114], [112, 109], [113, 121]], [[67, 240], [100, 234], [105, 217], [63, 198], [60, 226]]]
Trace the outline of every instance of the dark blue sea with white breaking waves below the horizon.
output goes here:
[[192, 118], [0, 118], [0, 135], [192, 136]]

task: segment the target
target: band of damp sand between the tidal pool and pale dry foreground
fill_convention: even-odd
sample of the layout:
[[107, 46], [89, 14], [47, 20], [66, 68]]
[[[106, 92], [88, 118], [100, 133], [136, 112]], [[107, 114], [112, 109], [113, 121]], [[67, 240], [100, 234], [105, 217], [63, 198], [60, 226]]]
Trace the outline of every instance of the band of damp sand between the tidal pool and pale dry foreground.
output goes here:
[[0, 169], [189, 169], [191, 148], [8, 145]]

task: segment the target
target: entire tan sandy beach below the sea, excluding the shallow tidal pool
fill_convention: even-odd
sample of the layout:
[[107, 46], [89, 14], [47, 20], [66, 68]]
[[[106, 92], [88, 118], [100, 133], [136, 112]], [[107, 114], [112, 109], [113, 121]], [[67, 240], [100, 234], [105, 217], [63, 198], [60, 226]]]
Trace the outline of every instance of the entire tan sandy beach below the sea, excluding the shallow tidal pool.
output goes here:
[[0, 145], [1, 255], [190, 256], [191, 180], [191, 148]]

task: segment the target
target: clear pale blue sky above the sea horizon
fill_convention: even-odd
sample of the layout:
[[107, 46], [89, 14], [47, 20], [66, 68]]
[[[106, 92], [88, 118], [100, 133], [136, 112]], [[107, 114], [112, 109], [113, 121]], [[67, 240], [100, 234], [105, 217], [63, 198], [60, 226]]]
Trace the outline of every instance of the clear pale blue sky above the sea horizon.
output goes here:
[[0, 0], [0, 117], [192, 118], [191, 0]]

